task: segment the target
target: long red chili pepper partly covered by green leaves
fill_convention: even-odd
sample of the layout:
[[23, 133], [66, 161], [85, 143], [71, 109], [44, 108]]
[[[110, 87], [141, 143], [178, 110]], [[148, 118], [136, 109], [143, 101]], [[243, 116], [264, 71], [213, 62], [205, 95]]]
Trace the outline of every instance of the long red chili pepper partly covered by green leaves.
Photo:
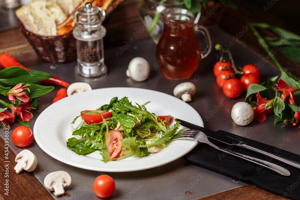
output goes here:
[[[9, 55], [8, 53], [2, 53], [0, 55], [0, 65], [3, 67], [3, 68], [7, 68], [7, 67], [22, 67], [23, 69], [26, 69], [26, 70], [30, 70], [29, 68], [23, 66], [21, 63], [19, 63], [16, 58], [13, 58], [11, 55]], [[46, 83], [54, 83], [54, 84], [57, 84], [57, 85], [61, 85], [63, 87], [69, 87], [69, 83], [53, 76], [53, 78], [49, 78], [49, 79], [46, 79], [44, 81], [41, 81], [41, 82], [46, 82]]]

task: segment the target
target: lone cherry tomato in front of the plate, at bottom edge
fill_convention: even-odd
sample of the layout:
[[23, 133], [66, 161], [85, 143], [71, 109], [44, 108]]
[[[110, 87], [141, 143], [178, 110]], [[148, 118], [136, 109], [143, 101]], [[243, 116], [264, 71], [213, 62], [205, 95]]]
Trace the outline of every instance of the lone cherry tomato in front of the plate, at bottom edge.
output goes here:
[[93, 191], [100, 198], [108, 198], [115, 192], [115, 181], [109, 175], [98, 176], [93, 182]]

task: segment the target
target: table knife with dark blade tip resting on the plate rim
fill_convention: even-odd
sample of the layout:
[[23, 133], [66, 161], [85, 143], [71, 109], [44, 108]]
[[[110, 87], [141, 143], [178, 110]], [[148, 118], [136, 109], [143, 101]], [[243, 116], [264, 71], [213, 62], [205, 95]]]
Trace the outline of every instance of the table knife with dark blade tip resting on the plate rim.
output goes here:
[[229, 136], [225, 136], [223, 134], [220, 134], [220, 133], [217, 133], [213, 130], [209, 130], [207, 128], [204, 128], [204, 127], [200, 127], [196, 124], [192, 124], [192, 123], [189, 123], [187, 121], [183, 121], [181, 119], [175, 119], [175, 121], [178, 121], [180, 125], [188, 128], [188, 129], [196, 129], [196, 130], [199, 130], [199, 131], [202, 131], [203, 133], [205, 133], [205, 135], [208, 137], [208, 138], [212, 138], [212, 139], [215, 139], [217, 141], [220, 141], [222, 143], [225, 143], [227, 145], [233, 145], [233, 146], [238, 146], [238, 147], [241, 147], [241, 148], [244, 148], [244, 149], [247, 149], [247, 150], [250, 150], [250, 151], [253, 151], [253, 152], [256, 152], [258, 154], [262, 154], [262, 155], [265, 155], [265, 156], [268, 156], [268, 157], [271, 157], [273, 158], [274, 160], [278, 160], [282, 163], [285, 163], [289, 166], [293, 166], [297, 169], [300, 169], [300, 163], [299, 162], [296, 162], [294, 160], [290, 160], [288, 158], [285, 158], [285, 157], [282, 157], [282, 156], [279, 156], [277, 154], [273, 154], [271, 152], [268, 152], [268, 151], [264, 151], [262, 149], [259, 149], [257, 147], [254, 147], [252, 145], [249, 145], [247, 144], [246, 142], [242, 142], [242, 141], [239, 141], [237, 139], [234, 139], [232, 137], [229, 137]]

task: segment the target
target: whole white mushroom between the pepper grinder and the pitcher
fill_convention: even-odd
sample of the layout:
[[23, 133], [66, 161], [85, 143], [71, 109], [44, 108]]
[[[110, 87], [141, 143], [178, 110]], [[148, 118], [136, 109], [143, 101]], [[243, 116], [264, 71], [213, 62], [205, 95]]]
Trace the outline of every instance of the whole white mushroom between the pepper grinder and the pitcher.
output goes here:
[[126, 70], [126, 75], [137, 82], [146, 80], [149, 77], [149, 74], [150, 65], [148, 61], [142, 57], [133, 58], [129, 62], [128, 69]]

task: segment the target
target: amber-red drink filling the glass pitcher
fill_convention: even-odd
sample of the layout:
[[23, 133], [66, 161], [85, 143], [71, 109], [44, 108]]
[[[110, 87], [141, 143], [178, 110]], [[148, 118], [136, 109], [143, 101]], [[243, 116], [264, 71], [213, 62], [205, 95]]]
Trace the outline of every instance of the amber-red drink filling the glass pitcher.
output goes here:
[[173, 80], [190, 78], [199, 65], [200, 52], [193, 25], [182, 20], [164, 24], [156, 46], [156, 59], [165, 77]]

